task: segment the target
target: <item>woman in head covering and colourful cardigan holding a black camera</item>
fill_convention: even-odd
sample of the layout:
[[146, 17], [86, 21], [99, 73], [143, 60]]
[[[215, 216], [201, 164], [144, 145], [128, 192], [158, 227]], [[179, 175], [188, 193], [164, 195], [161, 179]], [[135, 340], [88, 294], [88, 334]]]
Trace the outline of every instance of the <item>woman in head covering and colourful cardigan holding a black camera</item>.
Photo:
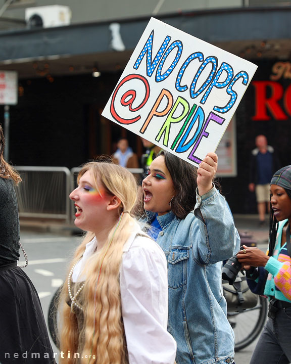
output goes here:
[[251, 364], [291, 362], [291, 165], [271, 179], [270, 238], [266, 255], [258, 248], [239, 251], [254, 293], [269, 298], [269, 319], [256, 345]]

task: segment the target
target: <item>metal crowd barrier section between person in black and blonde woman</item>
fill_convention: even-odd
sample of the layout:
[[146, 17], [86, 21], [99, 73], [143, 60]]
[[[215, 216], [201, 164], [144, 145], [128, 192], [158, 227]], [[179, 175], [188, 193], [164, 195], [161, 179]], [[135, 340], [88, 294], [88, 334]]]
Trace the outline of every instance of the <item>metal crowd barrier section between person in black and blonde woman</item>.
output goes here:
[[70, 221], [71, 172], [66, 167], [16, 166], [19, 216]]

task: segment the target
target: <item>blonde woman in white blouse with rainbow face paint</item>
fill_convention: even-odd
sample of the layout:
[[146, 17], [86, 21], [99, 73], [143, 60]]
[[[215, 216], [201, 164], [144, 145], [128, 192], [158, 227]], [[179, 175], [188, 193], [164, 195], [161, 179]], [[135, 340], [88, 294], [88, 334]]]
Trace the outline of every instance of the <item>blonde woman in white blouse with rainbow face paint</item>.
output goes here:
[[130, 215], [136, 190], [117, 164], [89, 162], [79, 172], [70, 198], [87, 233], [61, 293], [61, 363], [174, 363], [166, 260]]

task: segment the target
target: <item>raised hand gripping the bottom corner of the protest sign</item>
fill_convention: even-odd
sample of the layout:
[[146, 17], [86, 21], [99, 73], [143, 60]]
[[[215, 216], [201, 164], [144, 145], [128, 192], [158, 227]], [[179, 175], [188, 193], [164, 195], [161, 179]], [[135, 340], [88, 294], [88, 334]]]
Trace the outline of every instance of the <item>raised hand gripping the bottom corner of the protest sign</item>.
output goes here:
[[197, 169], [197, 186], [200, 196], [205, 195], [213, 187], [212, 180], [217, 170], [217, 160], [215, 153], [207, 153]]

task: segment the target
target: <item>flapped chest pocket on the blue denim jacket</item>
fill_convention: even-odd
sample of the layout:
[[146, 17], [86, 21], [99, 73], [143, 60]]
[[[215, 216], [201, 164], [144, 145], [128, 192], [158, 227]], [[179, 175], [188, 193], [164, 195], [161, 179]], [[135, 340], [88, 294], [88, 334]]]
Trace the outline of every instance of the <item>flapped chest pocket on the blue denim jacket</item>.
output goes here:
[[168, 286], [177, 289], [187, 283], [189, 249], [172, 248], [168, 255]]

